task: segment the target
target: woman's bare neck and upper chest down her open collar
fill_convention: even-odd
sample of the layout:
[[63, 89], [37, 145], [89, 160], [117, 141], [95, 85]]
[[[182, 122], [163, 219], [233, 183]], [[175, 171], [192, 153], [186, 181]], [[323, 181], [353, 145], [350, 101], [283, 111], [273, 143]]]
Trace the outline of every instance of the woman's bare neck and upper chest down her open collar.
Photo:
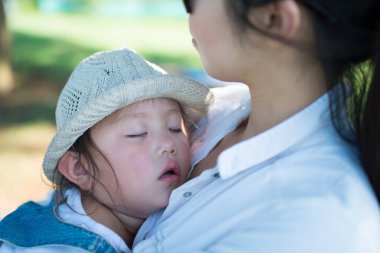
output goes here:
[[[276, 75], [271, 73], [274, 71], [277, 72]], [[190, 179], [200, 175], [205, 169], [215, 167], [219, 154], [225, 149], [279, 124], [315, 101], [326, 90], [323, 71], [317, 67], [313, 69], [309, 66], [307, 70], [300, 68], [298, 72], [291, 71], [289, 66], [282, 70], [272, 67], [268, 73], [260, 72], [261, 79], [255, 73], [251, 79], [254, 81], [239, 80], [248, 84], [251, 93], [252, 110], [249, 119], [225, 136], [197, 164]], [[299, 74], [292, 76], [289, 73]], [[246, 73], [245, 76], [249, 78], [249, 74]]]

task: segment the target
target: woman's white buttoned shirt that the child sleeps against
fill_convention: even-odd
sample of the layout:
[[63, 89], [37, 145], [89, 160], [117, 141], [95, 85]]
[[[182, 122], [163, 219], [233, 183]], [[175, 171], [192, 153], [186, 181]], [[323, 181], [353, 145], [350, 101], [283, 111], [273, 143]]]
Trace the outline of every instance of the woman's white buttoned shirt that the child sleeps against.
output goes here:
[[379, 253], [379, 205], [328, 104], [225, 150], [144, 223], [133, 252]]

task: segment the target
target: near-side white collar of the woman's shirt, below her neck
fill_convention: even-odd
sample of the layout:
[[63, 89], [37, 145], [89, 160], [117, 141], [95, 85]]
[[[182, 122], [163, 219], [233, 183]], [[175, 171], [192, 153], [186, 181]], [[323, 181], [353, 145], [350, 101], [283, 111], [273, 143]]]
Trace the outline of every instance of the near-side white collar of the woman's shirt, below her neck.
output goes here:
[[294, 146], [331, 123], [328, 93], [271, 129], [223, 151], [217, 167], [222, 179], [232, 177]]

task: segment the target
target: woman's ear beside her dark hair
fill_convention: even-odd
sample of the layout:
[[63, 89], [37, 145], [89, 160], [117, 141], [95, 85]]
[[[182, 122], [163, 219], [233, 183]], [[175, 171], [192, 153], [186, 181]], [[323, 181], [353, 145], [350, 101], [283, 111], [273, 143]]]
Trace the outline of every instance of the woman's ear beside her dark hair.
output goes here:
[[253, 8], [250, 19], [258, 29], [291, 39], [300, 29], [301, 10], [295, 0], [279, 0]]

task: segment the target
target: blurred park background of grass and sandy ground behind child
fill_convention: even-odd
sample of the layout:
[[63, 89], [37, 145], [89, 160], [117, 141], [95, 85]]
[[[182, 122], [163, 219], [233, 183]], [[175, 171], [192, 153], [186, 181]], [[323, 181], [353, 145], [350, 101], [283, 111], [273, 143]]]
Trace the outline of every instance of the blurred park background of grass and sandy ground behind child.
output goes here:
[[49, 190], [41, 164], [55, 131], [56, 101], [83, 58], [126, 46], [170, 73], [204, 78], [182, 1], [3, 3], [13, 82], [11, 89], [0, 93], [0, 218]]

